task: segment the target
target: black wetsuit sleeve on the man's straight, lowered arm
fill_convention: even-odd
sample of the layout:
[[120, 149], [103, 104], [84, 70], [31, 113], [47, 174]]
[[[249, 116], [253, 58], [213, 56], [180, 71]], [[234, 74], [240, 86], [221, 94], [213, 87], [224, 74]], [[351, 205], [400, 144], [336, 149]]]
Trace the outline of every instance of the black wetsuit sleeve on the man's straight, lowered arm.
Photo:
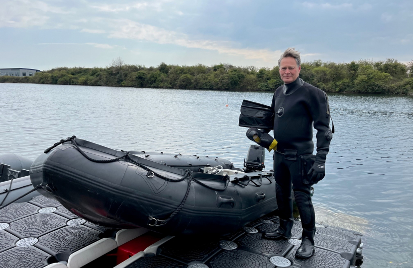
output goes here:
[[309, 92], [310, 113], [314, 122], [314, 129], [317, 130], [317, 154], [315, 156], [315, 161], [325, 163], [325, 158], [330, 149], [330, 141], [332, 138], [329, 127], [330, 116], [327, 113], [327, 111], [329, 111], [327, 95], [324, 91], [318, 88], [313, 88], [313, 90], [309, 90]]

